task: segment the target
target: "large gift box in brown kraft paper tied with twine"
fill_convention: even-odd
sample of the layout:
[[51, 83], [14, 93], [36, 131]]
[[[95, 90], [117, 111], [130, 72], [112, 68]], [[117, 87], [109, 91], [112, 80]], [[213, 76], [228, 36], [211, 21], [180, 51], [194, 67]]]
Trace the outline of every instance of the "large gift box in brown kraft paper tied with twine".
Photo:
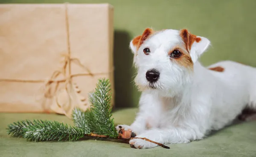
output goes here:
[[103, 77], [114, 97], [111, 5], [0, 5], [0, 112], [70, 115]]

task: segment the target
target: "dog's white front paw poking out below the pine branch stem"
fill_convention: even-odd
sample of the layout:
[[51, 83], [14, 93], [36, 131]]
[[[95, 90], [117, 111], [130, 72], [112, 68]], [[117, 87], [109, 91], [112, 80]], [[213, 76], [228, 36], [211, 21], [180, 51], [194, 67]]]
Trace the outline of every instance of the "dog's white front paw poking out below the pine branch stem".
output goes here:
[[154, 144], [139, 138], [130, 140], [129, 144], [131, 148], [135, 148], [135, 149], [149, 149], [149, 148], [154, 148], [158, 146], [157, 144]]

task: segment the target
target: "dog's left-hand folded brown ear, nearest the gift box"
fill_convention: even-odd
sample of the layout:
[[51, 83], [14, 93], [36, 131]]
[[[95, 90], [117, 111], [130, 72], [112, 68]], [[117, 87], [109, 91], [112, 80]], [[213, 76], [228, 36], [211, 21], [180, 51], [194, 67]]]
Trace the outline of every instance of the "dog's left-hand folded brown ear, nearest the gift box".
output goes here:
[[151, 28], [146, 28], [142, 35], [136, 36], [131, 40], [130, 48], [134, 54], [137, 52], [138, 48], [140, 48], [140, 45], [142, 45], [151, 34], [153, 34], [153, 30]]

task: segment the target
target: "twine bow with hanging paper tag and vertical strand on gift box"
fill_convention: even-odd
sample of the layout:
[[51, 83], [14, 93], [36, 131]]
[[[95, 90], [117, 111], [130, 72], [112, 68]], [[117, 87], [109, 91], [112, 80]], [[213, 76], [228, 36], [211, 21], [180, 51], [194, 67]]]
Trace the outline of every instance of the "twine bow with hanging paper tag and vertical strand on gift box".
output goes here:
[[[67, 50], [68, 54], [64, 54], [64, 64], [61, 70], [56, 70], [53, 72], [50, 80], [46, 81], [44, 87], [45, 87], [45, 97], [52, 98], [51, 89], [52, 84], [51, 80], [55, 80], [59, 75], [63, 75], [64, 78], [64, 87], [60, 88], [58, 90], [58, 82], [55, 85], [55, 90], [53, 91], [53, 98], [55, 101], [53, 101], [53, 104], [51, 105], [51, 109], [57, 113], [64, 113], [66, 116], [70, 117], [72, 114], [72, 110], [74, 107], [79, 107], [81, 109], [86, 109], [86, 102], [85, 98], [80, 95], [80, 90], [76, 84], [72, 82], [72, 77], [78, 76], [78, 75], [90, 75], [93, 76], [93, 74], [90, 72], [90, 70], [87, 67], [84, 67], [79, 59], [77, 58], [71, 58], [71, 51], [70, 51], [70, 34], [69, 34], [69, 21], [68, 21], [68, 14], [67, 14], [67, 3], [65, 3], [65, 21], [66, 21], [66, 34], [67, 34]], [[76, 74], [71, 75], [71, 62], [74, 62], [78, 64], [80, 67], [82, 67], [84, 70], [86, 70], [88, 73], [86, 74]], [[66, 68], [67, 68], [67, 74], [66, 74]], [[62, 80], [61, 80], [62, 81]], [[61, 99], [61, 101], [59, 101]], [[87, 102], [88, 103], [88, 102]]]

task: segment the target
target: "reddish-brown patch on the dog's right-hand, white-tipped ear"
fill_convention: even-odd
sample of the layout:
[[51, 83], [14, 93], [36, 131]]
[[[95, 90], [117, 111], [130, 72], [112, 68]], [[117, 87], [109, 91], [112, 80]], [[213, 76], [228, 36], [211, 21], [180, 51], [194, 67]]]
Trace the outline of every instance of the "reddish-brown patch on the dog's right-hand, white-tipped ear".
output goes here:
[[191, 49], [191, 46], [194, 42], [200, 42], [201, 38], [197, 37], [194, 34], [190, 34], [187, 29], [180, 30], [180, 36], [183, 39], [183, 42], [185, 43], [186, 50], [189, 52]]

